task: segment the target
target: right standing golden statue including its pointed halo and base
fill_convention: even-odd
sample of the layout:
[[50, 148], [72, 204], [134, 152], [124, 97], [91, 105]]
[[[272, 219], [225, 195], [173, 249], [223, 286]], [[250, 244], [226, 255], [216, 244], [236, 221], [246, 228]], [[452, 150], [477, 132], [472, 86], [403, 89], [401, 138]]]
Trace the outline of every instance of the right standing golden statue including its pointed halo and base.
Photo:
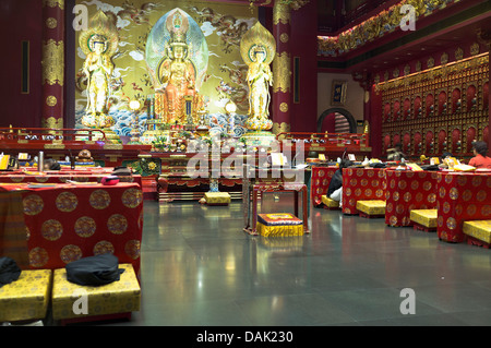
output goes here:
[[259, 22], [242, 37], [240, 52], [248, 69], [249, 118], [246, 125], [250, 130], [265, 131], [273, 127], [270, 116], [270, 86], [273, 74], [270, 64], [274, 59], [276, 43], [273, 35]]

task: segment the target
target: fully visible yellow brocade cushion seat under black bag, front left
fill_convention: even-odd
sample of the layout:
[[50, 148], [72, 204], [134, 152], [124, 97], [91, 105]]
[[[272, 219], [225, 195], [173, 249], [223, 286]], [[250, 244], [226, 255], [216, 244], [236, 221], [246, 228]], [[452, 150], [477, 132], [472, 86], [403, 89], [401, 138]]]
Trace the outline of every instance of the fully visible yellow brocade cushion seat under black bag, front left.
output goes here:
[[[140, 311], [141, 290], [133, 266], [120, 264], [119, 267], [124, 269], [119, 280], [98, 287], [71, 283], [67, 280], [65, 268], [55, 269], [52, 317], [64, 320]], [[81, 293], [81, 289], [84, 292]], [[87, 311], [79, 314], [73, 309], [84, 309], [82, 295], [86, 295]]]

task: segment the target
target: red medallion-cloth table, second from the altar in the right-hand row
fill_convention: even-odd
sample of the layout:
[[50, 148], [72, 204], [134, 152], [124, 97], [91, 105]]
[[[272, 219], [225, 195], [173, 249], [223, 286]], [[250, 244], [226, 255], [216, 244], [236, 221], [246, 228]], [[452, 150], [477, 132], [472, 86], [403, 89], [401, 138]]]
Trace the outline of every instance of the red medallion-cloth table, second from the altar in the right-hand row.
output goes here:
[[344, 168], [343, 214], [358, 214], [358, 201], [384, 200], [386, 187], [384, 168]]

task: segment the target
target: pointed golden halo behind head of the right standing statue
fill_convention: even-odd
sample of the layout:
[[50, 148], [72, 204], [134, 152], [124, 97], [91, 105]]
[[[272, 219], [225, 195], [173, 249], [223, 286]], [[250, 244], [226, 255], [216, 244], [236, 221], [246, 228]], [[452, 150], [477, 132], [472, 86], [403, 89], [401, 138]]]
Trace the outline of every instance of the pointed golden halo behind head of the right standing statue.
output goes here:
[[254, 61], [253, 55], [259, 50], [265, 51], [266, 58], [264, 62], [271, 64], [276, 53], [276, 40], [260, 22], [256, 22], [240, 40], [240, 55], [246, 64]]

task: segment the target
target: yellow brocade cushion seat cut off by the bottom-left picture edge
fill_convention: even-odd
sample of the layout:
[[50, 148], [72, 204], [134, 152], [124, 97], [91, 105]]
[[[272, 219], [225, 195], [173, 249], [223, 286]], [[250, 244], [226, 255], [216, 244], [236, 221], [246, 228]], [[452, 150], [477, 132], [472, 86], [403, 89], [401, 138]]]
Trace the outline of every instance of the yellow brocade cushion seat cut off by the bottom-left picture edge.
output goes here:
[[0, 322], [40, 320], [46, 316], [51, 269], [22, 271], [17, 280], [0, 288]]

